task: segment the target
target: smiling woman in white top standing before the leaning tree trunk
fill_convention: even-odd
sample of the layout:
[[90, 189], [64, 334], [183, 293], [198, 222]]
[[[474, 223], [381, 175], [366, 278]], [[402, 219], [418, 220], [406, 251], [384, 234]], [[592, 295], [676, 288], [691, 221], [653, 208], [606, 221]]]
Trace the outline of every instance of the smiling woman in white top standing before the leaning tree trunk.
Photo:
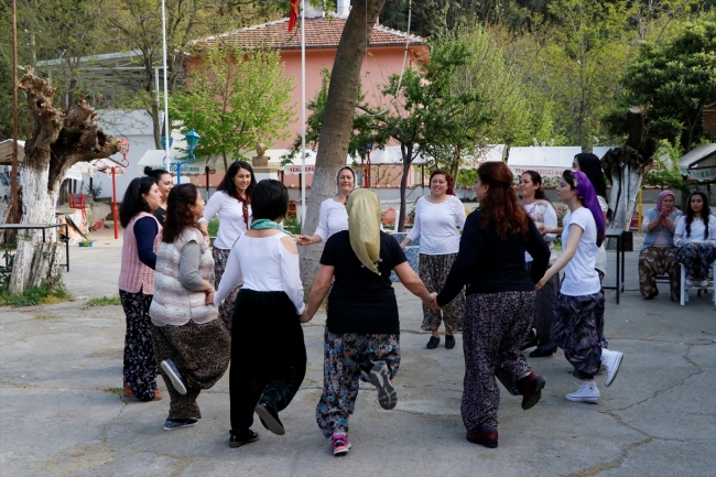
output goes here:
[[314, 243], [325, 242], [334, 234], [348, 230], [348, 213], [346, 204], [348, 196], [356, 188], [356, 173], [345, 165], [338, 170], [336, 175], [338, 193], [330, 198], [321, 203], [318, 213], [318, 228], [313, 236], [299, 236], [300, 246], [311, 246]]

